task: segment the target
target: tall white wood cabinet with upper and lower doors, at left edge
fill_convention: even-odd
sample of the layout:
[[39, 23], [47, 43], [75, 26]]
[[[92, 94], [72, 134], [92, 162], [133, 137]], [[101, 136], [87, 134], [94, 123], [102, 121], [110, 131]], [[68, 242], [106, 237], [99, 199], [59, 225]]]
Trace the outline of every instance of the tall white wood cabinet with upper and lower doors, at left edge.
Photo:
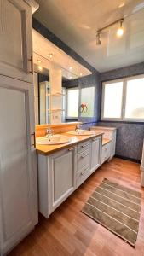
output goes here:
[[32, 4], [0, 0], [0, 255], [37, 224]]

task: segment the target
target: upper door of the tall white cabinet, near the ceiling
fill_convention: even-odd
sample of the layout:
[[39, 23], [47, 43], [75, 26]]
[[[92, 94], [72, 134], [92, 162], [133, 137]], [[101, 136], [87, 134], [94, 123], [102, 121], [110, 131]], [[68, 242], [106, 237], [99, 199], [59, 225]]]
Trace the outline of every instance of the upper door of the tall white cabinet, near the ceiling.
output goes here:
[[32, 9], [0, 0], [0, 74], [32, 83]]

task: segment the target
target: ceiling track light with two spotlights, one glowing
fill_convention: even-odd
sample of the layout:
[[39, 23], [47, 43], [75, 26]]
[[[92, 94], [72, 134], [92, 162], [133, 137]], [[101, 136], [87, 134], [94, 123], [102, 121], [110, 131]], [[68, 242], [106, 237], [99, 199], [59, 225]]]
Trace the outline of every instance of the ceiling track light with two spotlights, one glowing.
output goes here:
[[98, 29], [97, 32], [96, 32], [96, 45], [101, 44], [101, 32], [103, 32], [107, 28], [109, 28], [109, 27], [111, 27], [111, 26], [113, 26], [117, 23], [120, 23], [120, 27], [118, 28], [117, 35], [118, 35], [118, 37], [121, 37], [124, 33], [123, 22], [124, 22], [124, 19], [119, 19], [119, 20], [116, 20], [116, 21], [112, 22], [111, 24], [109, 24], [107, 26], [102, 27], [101, 29]]

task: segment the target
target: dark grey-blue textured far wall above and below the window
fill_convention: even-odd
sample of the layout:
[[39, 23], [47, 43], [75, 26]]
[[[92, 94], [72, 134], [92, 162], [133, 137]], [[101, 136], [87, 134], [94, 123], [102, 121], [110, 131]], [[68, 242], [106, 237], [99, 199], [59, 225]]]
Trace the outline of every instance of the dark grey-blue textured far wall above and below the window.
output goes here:
[[[102, 81], [120, 79], [144, 73], [144, 62], [130, 67], [118, 68], [109, 72], [101, 73]], [[101, 113], [100, 113], [101, 114]], [[124, 158], [141, 160], [142, 143], [144, 139], [144, 123], [128, 122], [100, 122], [98, 125], [114, 126], [118, 128], [116, 154]]]

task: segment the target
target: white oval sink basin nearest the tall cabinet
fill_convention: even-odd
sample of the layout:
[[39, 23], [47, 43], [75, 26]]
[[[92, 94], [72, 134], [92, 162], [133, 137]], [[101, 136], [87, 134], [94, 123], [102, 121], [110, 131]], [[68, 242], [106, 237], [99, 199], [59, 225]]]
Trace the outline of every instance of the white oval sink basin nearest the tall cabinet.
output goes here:
[[55, 134], [45, 137], [37, 137], [36, 143], [40, 145], [56, 145], [56, 144], [63, 144], [69, 143], [71, 138], [65, 135]]

